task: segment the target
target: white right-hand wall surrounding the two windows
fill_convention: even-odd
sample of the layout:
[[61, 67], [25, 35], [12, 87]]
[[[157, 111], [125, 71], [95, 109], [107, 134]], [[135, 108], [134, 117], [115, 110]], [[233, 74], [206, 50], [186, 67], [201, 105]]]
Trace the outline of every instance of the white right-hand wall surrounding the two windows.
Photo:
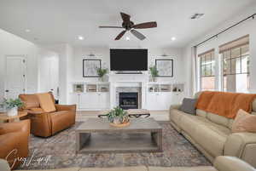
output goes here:
[[[192, 83], [191, 78], [191, 47], [193, 47], [195, 44], [200, 43], [201, 41], [207, 39], [208, 37], [211, 37], [212, 35], [218, 33], [219, 31], [224, 30], [225, 28], [235, 24], [236, 22], [243, 20], [247, 18], [247, 16], [252, 15], [256, 12], [256, 5], [247, 9], [247, 11], [236, 14], [232, 19], [227, 20], [224, 22], [224, 24], [218, 26], [218, 28], [213, 29], [212, 31], [209, 31], [207, 34], [202, 35], [202, 37], [196, 39], [192, 43], [189, 43], [186, 47], [183, 48], [183, 57], [184, 60], [187, 61], [185, 66], [185, 77], [187, 83]], [[236, 26], [229, 31], [224, 32], [223, 34], [220, 34], [218, 37], [213, 38], [211, 41], [202, 44], [197, 48], [197, 54], [201, 54], [203, 52], [206, 52], [209, 49], [215, 48], [215, 59], [216, 59], [216, 88], [220, 90], [221, 84], [218, 82], [221, 79], [221, 76], [218, 75], [218, 67], [221, 61], [219, 61], [218, 58], [218, 46], [222, 45], [224, 43], [228, 43], [230, 41], [233, 41], [239, 37], [245, 36], [247, 34], [250, 35], [250, 92], [256, 93], [256, 19], [254, 20], [247, 20], [244, 23], [242, 23], [239, 26]], [[218, 73], [218, 74], [217, 74]], [[191, 90], [189, 90], [189, 94], [191, 94]]]

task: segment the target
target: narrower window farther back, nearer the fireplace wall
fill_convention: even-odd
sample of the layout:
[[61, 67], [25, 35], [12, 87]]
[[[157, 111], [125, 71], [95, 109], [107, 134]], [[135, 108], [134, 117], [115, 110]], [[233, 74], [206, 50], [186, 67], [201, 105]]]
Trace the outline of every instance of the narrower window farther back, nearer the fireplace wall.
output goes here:
[[199, 54], [201, 66], [201, 91], [215, 89], [214, 49]]

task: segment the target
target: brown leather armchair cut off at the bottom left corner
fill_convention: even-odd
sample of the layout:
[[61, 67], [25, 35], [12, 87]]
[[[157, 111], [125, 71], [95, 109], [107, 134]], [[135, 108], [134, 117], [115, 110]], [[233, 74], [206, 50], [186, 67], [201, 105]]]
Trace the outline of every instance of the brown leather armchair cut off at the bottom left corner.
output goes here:
[[21, 163], [21, 157], [28, 156], [30, 120], [17, 123], [0, 123], [0, 158], [6, 159], [15, 169]]

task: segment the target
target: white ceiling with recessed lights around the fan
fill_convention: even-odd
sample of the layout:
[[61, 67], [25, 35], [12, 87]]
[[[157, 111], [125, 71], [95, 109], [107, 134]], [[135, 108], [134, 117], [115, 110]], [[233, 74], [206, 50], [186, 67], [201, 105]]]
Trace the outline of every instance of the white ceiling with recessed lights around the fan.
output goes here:
[[[182, 47], [228, 20], [254, 0], [0, 0], [0, 28], [35, 43], [70, 43], [86, 47]], [[140, 30], [147, 39], [114, 41], [119, 12], [135, 23], [156, 20], [157, 28]], [[195, 13], [205, 13], [190, 20]], [[30, 32], [25, 30], [29, 29]], [[84, 40], [78, 40], [78, 36]], [[177, 37], [172, 41], [172, 37]], [[36, 39], [35, 39], [36, 38]]]

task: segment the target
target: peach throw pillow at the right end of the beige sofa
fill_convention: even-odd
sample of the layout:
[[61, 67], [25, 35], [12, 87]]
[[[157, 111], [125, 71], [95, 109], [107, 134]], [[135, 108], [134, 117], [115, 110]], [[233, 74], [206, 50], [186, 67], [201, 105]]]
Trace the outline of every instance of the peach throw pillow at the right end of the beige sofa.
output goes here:
[[239, 110], [232, 124], [232, 133], [249, 132], [256, 133], [256, 116]]

